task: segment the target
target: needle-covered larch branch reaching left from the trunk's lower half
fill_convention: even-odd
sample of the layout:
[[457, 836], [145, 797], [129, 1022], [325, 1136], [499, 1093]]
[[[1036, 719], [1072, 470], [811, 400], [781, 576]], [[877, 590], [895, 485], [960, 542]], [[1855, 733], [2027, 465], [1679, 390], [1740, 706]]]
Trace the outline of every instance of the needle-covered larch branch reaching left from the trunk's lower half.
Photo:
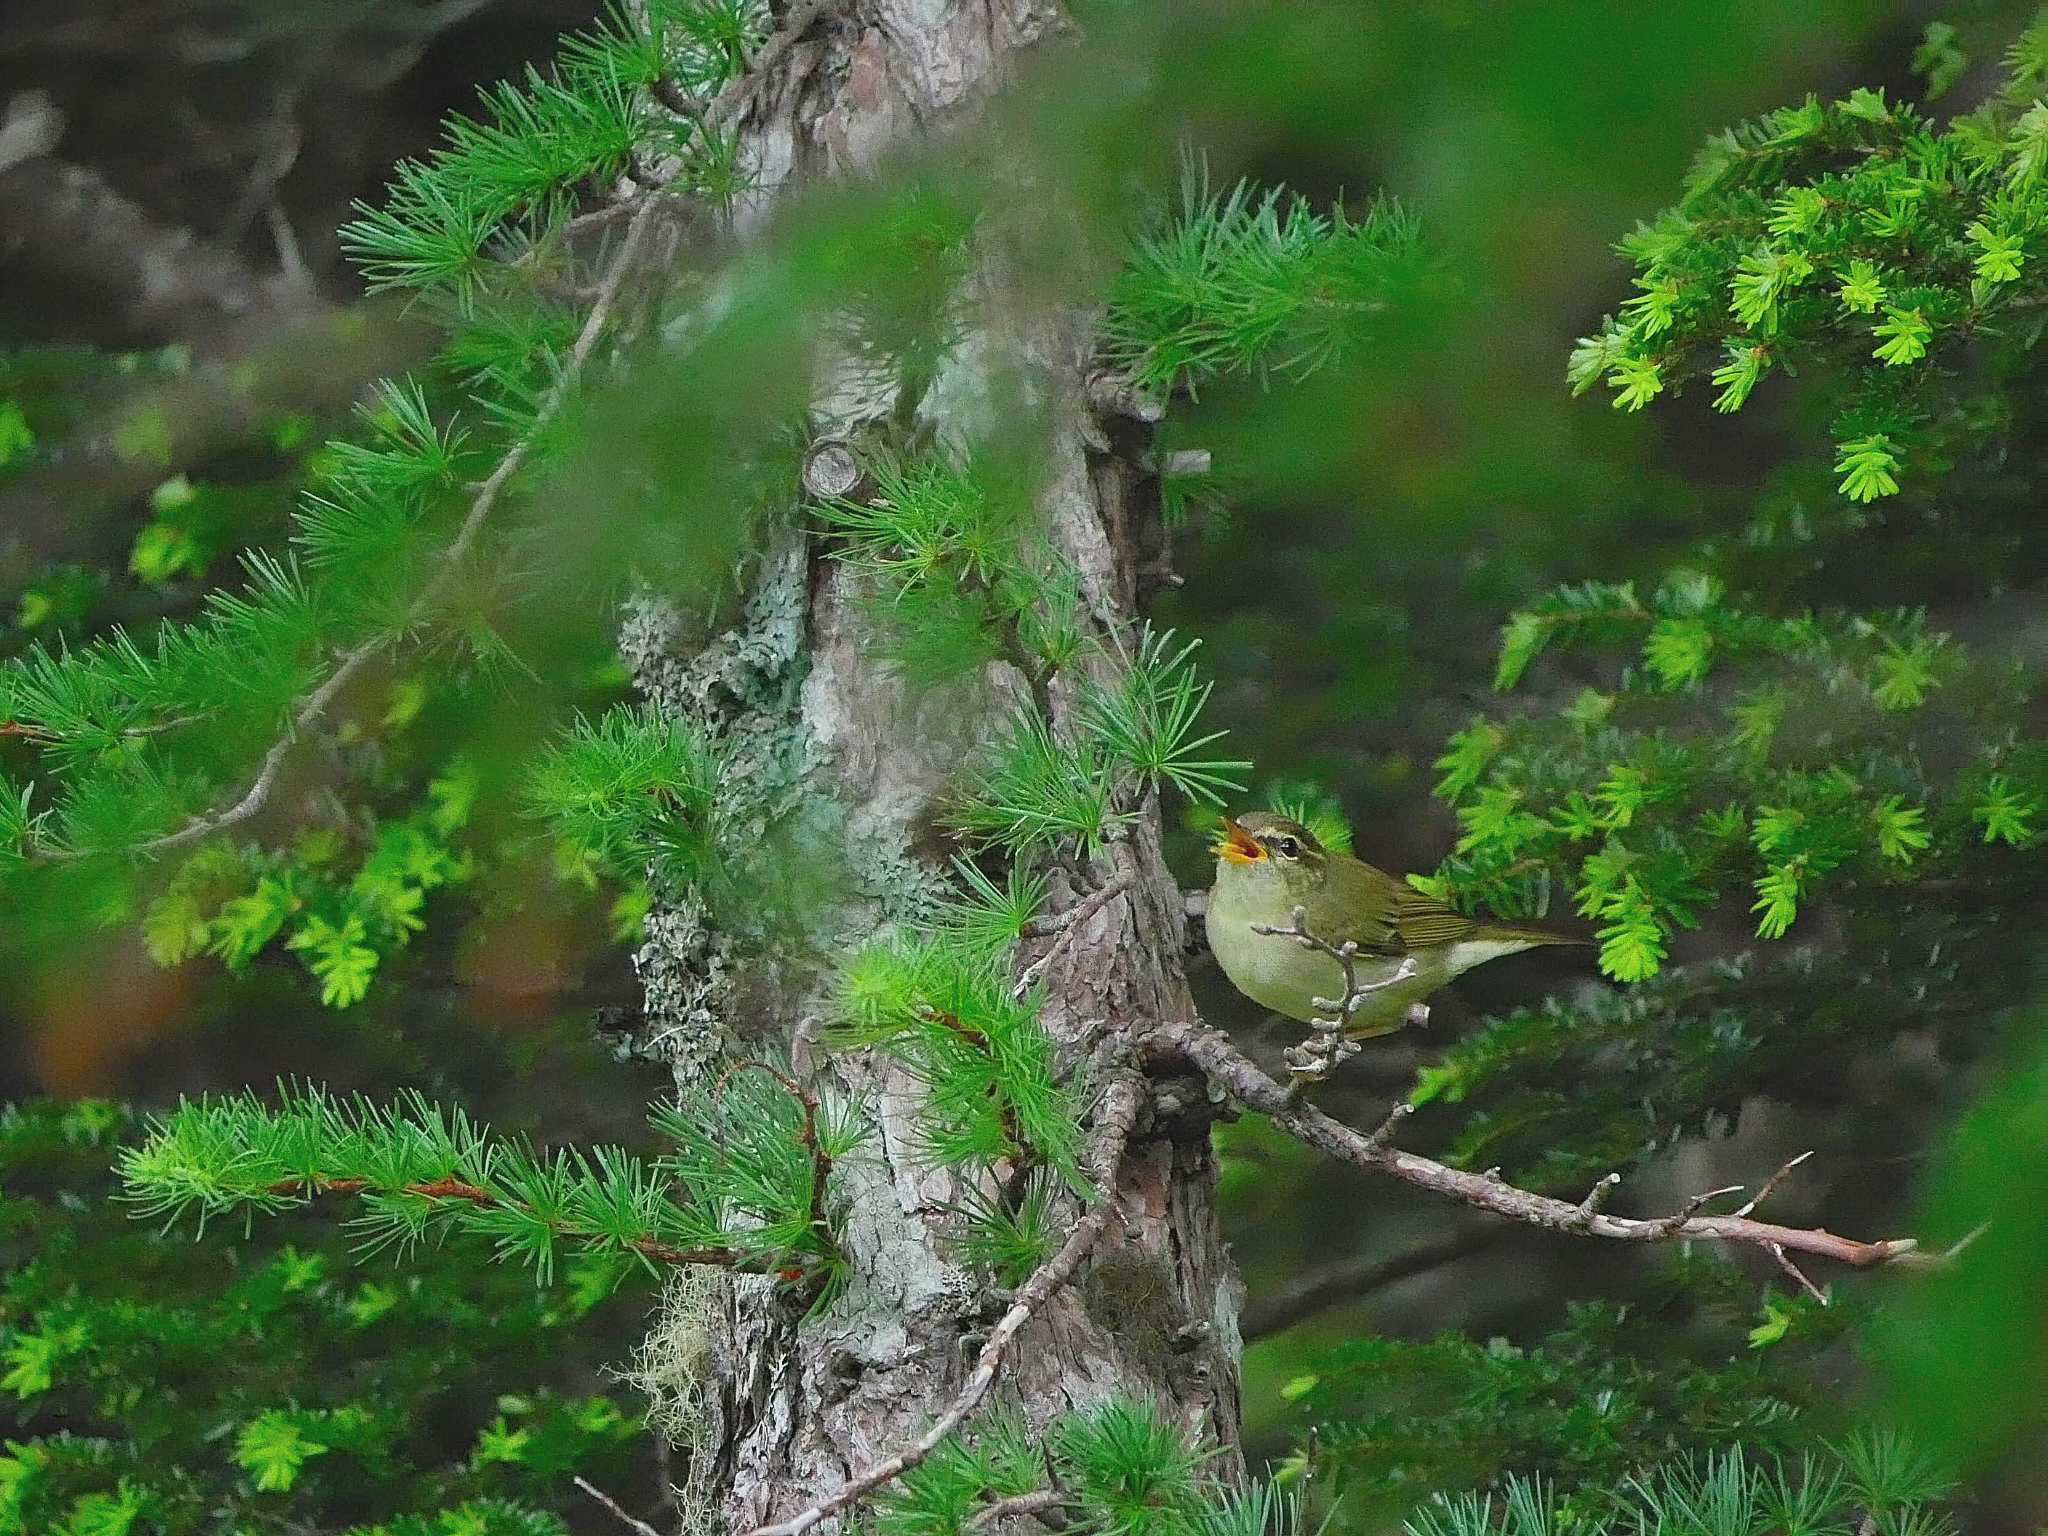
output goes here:
[[547, 1155], [418, 1094], [377, 1106], [283, 1085], [274, 1108], [254, 1096], [184, 1102], [152, 1118], [119, 1167], [137, 1212], [166, 1227], [338, 1190], [362, 1202], [350, 1227], [365, 1251], [410, 1253], [461, 1231], [543, 1284], [565, 1255], [618, 1274], [696, 1262], [838, 1284], [840, 1249], [819, 1223], [836, 1206], [831, 1161], [860, 1139], [848, 1112], [807, 1112], [778, 1075], [733, 1071], [659, 1106], [653, 1124], [674, 1143], [653, 1161], [618, 1147]]

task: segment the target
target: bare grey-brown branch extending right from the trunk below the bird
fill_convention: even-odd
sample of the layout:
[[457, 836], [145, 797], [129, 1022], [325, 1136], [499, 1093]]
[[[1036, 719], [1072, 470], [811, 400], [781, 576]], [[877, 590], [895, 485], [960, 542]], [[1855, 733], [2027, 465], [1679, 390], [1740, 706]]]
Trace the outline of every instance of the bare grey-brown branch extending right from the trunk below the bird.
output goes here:
[[[1417, 1157], [1395, 1147], [1374, 1145], [1372, 1137], [1333, 1120], [1313, 1104], [1296, 1102], [1288, 1090], [1260, 1071], [1257, 1063], [1245, 1057], [1221, 1034], [1198, 1024], [1161, 1024], [1145, 1040], [1157, 1055], [1178, 1057], [1200, 1067], [1212, 1083], [1229, 1092], [1247, 1108], [1270, 1116], [1276, 1126], [1296, 1141], [1329, 1153], [1346, 1163], [1356, 1163], [1372, 1174], [1389, 1174], [1403, 1184], [1462, 1200], [1479, 1210], [1489, 1210], [1509, 1221], [1542, 1227], [1556, 1233], [1579, 1233], [1606, 1237], [1622, 1243], [1661, 1243], [1671, 1239], [1712, 1239], [1720, 1243], [1747, 1243], [1772, 1251], [1774, 1245], [1788, 1253], [1810, 1253], [1835, 1260], [1851, 1268], [1870, 1270], [1878, 1266], [1898, 1266], [1913, 1270], [1937, 1268], [1946, 1255], [1925, 1253], [1911, 1237], [1890, 1237], [1882, 1241], [1862, 1241], [1841, 1237], [1821, 1227], [1780, 1227], [1769, 1221], [1749, 1217], [1702, 1217], [1679, 1212], [1673, 1217], [1632, 1219], [1610, 1217], [1602, 1210], [1585, 1210], [1571, 1200], [1556, 1200], [1546, 1194], [1516, 1188], [1499, 1180], [1497, 1169], [1489, 1174], [1468, 1174], [1430, 1157]], [[1724, 1194], [1724, 1190], [1722, 1190]], [[1704, 1200], [1704, 1196], [1702, 1196]]]

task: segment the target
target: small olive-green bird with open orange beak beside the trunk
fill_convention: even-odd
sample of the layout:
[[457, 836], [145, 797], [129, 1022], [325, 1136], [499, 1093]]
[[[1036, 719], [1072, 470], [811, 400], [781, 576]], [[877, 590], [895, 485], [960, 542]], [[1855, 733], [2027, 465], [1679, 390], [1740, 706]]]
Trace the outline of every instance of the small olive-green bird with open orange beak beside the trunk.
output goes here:
[[[1475, 965], [1542, 944], [1585, 944], [1544, 928], [1487, 924], [1417, 891], [1386, 870], [1325, 848], [1284, 815], [1223, 817], [1212, 850], [1208, 946], [1245, 997], [1286, 1018], [1331, 1020], [1346, 997], [1343, 965], [1329, 950], [1356, 944], [1356, 1010], [1343, 1036], [1391, 1034], [1409, 1010]], [[1300, 930], [1327, 948], [1305, 944]], [[1278, 930], [1278, 932], [1260, 932]], [[1327, 1006], [1317, 1006], [1319, 999]]]

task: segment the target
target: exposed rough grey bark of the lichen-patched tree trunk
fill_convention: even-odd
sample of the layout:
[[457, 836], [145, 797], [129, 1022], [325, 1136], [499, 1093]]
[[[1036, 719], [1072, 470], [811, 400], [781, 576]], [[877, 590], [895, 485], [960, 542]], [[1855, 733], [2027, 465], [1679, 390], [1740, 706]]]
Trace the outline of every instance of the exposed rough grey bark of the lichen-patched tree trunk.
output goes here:
[[[971, 121], [1024, 49], [1065, 47], [1065, 31], [1038, 0], [840, 0], [795, 43], [768, 49], [766, 76], [739, 119], [758, 195], [864, 170], [913, 133]], [[1022, 324], [1006, 348], [1024, 354], [1047, 422], [1036, 444], [1047, 465], [1044, 526], [1081, 571], [1087, 623], [1108, 639], [1139, 606], [1149, 539], [1137, 530], [1157, 528], [1157, 487], [1133, 457], [1090, 446], [1108, 434], [1087, 416], [1087, 317]], [[948, 410], [967, 410], [946, 401], [971, 395], [934, 387], [922, 416], [944, 428]], [[885, 408], [834, 395], [817, 403], [815, 426], [858, 430], [862, 416]], [[780, 539], [733, 631], [678, 655], [680, 629], [647, 606], [629, 623], [627, 651], [659, 705], [717, 719], [741, 772], [791, 774], [842, 809], [836, 836], [858, 874], [825, 928], [844, 952], [942, 879], [928, 827], [958, 768], [963, 729], [934, 719], [934, 705], [874, 659], [848, 571], [813, 559], [803, 532]], [[1016, 686], [1014, 674], [991, 678], [969, 743], [993, 735]], [[1047, 702], [1057, 723], [1071, 692], [1053, 680]], [[1155, 807], [1092, 868], [1057, 870], [1049, 911], [1116, 881], [1118, 895], [1059, 942], [1044, 975], [1044, 1022], [1075, 1071], [1104, 1040], [1192, 1018], [1186, 918], [1161, 860]], [[942, 1413], [1008, 1298], [948, 1255], [944, 1206], [958, 1190], [915, 1155], [907, 1126], [918, 1085], [870, 1053], [815, 1049], [825, 977], [801, 975], [766, 995], [750, 985], [741, 1001], [739, 967], [700, 913], [657, 909], [649, 934], [639, 956], [647, 1038], [678, 1053], [680, 1077], [741, 1040], [780, 1042], [799, 1069], [872, 1104], [881, 1122], [868, 1153], [842, 1169], [852, 1190], [844, 1241], [856, 1270], [844, 1300], [803, 1319], [764, 1280], [696, 1276], [653, 1339], [651, 1360], [672, 1374], [694, 1372], [696, 1382], [655, 1380], [657, 1397], [688, 1399], [686, 1413], [670, 1415], [690, 1458], [684, 1524], [739, 1532], [831, 1493]], [[1024, 958], [1049, 944], [1032, 940]], [[1206, 1096], [1192, 1090], [1182, 1100], [1190, 1114], [1161, 1108], [1171, 1102], [1165, 1094], [1143, 1112], [1106, 1239], [1030, 1323], [997, 1397], [1032, 1423], [1108, 1395], [1141, 1397], [1221, 1446], [1221, 1466], [1233, 1470], [1239, 1286], [1217, 1231]]]

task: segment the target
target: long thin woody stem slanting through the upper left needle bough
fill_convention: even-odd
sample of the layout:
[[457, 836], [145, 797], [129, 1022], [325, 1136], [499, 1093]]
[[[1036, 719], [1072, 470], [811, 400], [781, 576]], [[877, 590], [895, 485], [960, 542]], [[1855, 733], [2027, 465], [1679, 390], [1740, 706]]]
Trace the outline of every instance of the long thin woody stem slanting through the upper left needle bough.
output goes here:
[[[412, 602], [412, 608], [408, 612], [408, 629], [412, 627], [412, 623], [420, 621], [428, 610], [432, 610], [432, 606], [457, 580], [463, 561], [469, 557], [469, 551], [475, 547], [477, 537], [483, 532], [483, 524], [485, 520], [489, 520], [492, 510], [504, 496], [506, 485], [510, 485], [512, 479], [518, 475], [518, 471], [526, 467], [526, 459], [532, 455], [535, 438], [549, 426], [549, 422], [555, 420], [555, 416], [567, 401], [569, 389], [575, 387], [575, 381], [582, 375], [584, 365], [590, 360], [590, 352], [596, 348], [598, 338], [604, 334], [604, 326], [610, 322], [612, 307], [618, 303], [618, 293], [625, 287], [627, 274], [639, 260], [641, 244], [647, 238], [647, 229], [653, 223], [651, 215], [657, 207], [659, 203], [655, 199], [647, 199], [633, 215], [633, 223], [627, 227], [627, 236], [625, 240], [618, 242], [618, 250], [614, 252], [610, 266], [606, 268], [604, 283], [598, 289], [598, 297], [590, 305], [590, 315], [584, 319], [584, 330], [578, 334], [575, 344], [569, 348], [569, 356], [561, 369], [561, 377], [541, 397], [541, 406], [535, 412], [532, 430], [520, 436], [506, 451], [504, 459], [498, 461], [498, 467], [489, 473], [489, 477], [485, 477], [477, 485], [475, 498], [469, 504], [469, 512], [465, 514], [461, 528], [457, 528], [455, 539], [449, 543], [449, 547], [440, 551], [440, 567], [434, 571], [432, 580], [428, 580], [428, 584], [420, 590], [420, 596], [414, 598]], [[272, 791], [276, 788], [279, 774], [285, 768], [285, 760], [291, 756], [291, 748], [297, 745], [299, 733], [317, 723], [334, 705], [334, 700], [340, 696], [340, 692], [354, 680], [354, 676], [362, 672], [362, 668], [369, 666], [371, 659], [375, 659], [389, 643], [391, 635], [377, 635], [342, 651], [340, 659], [334, 664], [334, 670], [326, 676], [326, 680], [317, 688], [313, 688], [313, 692], [305, 696], [305, 700], [293, 713], [291, 725], [285, 729], [285, 733], [270, 743], [268, 752], [264, 752], [262, 762], [256, 768], [256, 778], [250, 780], [250, 786], [242, 793], [238, 801], [233, 801], [227, 807], [221, 807], [219, 811], [197, 815], [176, 831], [166, 831], [160, 838], [150, 838], [147, 842], [137, 844], [133, 852], [137, 854], [170, 852], [172, 848], [182, 848], [188, 842], [197, 842], [201, 838], [213, 836], [215, 831], [225, 831], [227, 827], [240, 825], [242, 821], [248, 821], [258, 811], [262, 811], [264, 805], [268, 805]], [[96, 850], [43, 848], [37, 850], [35, 858], [51, 862], [51, 860], [84, 858], [90, 852]]]

